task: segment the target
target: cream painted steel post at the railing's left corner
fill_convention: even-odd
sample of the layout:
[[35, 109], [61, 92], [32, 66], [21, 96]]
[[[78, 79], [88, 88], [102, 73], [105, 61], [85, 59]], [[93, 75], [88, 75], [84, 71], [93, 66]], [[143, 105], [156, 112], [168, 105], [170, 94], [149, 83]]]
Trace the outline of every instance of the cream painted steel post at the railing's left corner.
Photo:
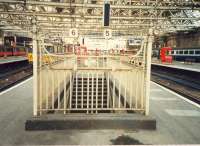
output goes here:
[[[38, 115], [38, 58], [37, 58], [37, 26], [33, 19], [33, 115]], [[41, 63], [41, 62], [40, 62]]]

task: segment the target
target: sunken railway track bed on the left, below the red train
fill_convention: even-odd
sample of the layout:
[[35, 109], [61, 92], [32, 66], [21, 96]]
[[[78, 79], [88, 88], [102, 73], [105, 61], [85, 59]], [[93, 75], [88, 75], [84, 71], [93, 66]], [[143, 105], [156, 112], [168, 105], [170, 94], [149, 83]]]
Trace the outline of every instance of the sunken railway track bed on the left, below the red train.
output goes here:
[[[9, 65], [8, 65], [9, 66]], [[33, 75], [32, 64], [14, 63], [10, 67], [1, 66], [0, 92], [18, 84]]]

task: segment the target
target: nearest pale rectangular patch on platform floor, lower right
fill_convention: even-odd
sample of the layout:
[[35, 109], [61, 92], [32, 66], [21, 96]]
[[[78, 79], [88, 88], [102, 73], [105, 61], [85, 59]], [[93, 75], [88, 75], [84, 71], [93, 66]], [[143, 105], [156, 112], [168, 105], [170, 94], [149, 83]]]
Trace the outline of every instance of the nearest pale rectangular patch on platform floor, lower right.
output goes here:
[[165, 109], [165, 112], [171, 116], [200, 117], [200, 112], [196, 110]]

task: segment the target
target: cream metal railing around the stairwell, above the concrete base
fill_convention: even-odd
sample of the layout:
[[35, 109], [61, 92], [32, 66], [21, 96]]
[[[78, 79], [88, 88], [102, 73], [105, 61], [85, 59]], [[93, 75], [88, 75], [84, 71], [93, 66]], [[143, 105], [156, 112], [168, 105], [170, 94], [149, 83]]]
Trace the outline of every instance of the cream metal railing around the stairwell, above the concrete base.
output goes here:
[[48, 54], [48, 63], [43, 62], [43, 52], [40, 52], [37, 75], [34, 76], [37, 85], [34, 87], [34, 115], [148, 114], [148, 47], [151, 48], [144, 43], [142, 55], [137, 56]]

